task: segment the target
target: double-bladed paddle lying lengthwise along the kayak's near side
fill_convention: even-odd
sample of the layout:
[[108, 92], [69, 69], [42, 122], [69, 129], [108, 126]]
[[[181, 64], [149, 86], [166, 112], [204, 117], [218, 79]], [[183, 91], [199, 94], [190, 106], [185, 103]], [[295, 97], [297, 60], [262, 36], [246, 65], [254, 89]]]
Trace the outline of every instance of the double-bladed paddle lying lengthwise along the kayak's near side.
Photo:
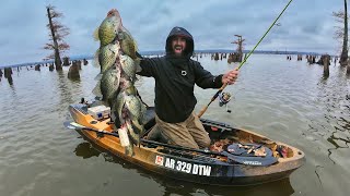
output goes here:
[[[65, 125], [65, 127], [70, 128], [70, 130], [92, 131], [97, 134], [106, 134], [106, 135], [119, 137], [119, 135], [117, 133], [112, 133], [112, 132], [106, 132], [104, 130], [88, 127], [88, 126], [78, 124], [75, 122], [65, 122], [63, 125]], [[155, 146], [168, 147], [168, 148], [178, 149], [178, 150], [195, 151], [195, 152], [200, 152], [200, 154], [206, 154], [206, 155], [224, 156], [224, 157], [228, 157], [229, 160], [231, 160], [233, 162], [238, 162], [238, 163], [248, 164], [248, 166], [262, 166], [264, 167], [264, 166], [270, 166], [270, 164], [277, 162], [277, 159], [275, 157], [242, 157], [242, 156], [234, 156], [232, 154], [229, 154], [228, 151], [215, 152], [215, 151], [210, 151], [210, 150], [206, 150], [206, 149], [195, 149], [195, 148], [187, 148], [187, 147], [182, 147], [182, 146], [173, 146], [173, 145], [159, 143], [159, 142], [154, 142], [154, 140], [148, 140], [148, 139], [143, 139], [143, 138], [141, 138], [141, 143], [149, 144], [149, 145], [155, 145]]]

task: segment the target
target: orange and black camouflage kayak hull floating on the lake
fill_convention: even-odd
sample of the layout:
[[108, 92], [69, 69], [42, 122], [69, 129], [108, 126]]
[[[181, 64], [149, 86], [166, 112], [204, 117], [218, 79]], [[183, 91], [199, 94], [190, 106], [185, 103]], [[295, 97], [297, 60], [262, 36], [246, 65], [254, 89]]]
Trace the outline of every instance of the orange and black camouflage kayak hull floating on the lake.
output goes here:
[[[73, 120], [88, 127], [113, 132], [109, 120], [96, 121], [86, 113], [85, 105], [71, 105], [69, 111]], [[224, 132], [233, 133], [234, 136], [254, 142], [269, 140], [267, 137], [247, 130], [232, 128], [224, 123], [210, 120], [202, 120], [205, 127], [218, 127]], [[218, 130], [214, 128], [214, 130]], [[209, 128], [208, 128], [209, 130]], [[276, 144], [289, 149], [289, 157], [279, 158], [277, 163], [271, 166], [249, 166], [241, 163], [231, 163], [224, 157], [218, 158], [205, 154], [172, 148], [167, 146], [158, 146], [142, 143], [140, 147], [133, 147], [135, 156], [126, 156], [125, 149], [120, 145], [118, 137], [114, 135], [98, 134], [92, 131], [79, 131], [93, 145], [109, 151], [112, 155], [139, 166], [145, 170], [158, 174], [188, 181], [200, 184], [212, 185], [252, 185], [261, 184], [271, 181], [278, 181], [288, 177], [294, 170], [305, 162], [304, 152], [287, 144], [275, 142]], [[210, 133], [211, 137], [222, 135], [218, 131]], [[291, 156], [292, 155], [292, 156]]]

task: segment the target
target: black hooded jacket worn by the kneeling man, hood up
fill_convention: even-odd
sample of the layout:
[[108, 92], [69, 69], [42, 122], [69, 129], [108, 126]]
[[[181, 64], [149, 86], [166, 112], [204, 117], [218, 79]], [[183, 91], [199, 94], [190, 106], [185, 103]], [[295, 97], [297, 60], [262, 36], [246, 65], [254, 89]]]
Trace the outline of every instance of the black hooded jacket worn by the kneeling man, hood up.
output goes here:
[[[172, 38], [183, 36], [186, 48], [183, 57], [174, 56]], [[143, 58], [139, 75], [155, 79], [155, 113], [168, 123], [185, 121], [197, 103], [194, 95], [195, 84], [201, 88], [220, 88], [222, 75], [213, 76], [198, 61], [190, 57], [195, 44], [192, 36], [183, 27], [174, 27], [166, 38], [166, 56], [162, 58]]]

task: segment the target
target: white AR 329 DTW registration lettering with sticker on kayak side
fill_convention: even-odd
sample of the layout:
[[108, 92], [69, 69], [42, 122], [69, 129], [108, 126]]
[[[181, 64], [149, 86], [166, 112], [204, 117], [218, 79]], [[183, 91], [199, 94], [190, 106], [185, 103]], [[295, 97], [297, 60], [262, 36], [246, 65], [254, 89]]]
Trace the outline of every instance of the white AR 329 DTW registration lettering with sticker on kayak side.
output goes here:
[[185, 172], [194, 175], [210, 176], [211, 167], [205, 164], [196, 164], [186, 161], [175, 160], [167, 157], [155, 156], [155, 164], [162, 166], [172, 170]]

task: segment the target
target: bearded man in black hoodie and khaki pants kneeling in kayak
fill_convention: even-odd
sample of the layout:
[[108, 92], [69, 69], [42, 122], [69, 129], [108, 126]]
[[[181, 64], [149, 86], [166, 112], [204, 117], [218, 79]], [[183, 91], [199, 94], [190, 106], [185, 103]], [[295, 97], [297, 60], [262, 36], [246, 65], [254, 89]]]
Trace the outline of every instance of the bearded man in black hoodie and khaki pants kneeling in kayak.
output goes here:
[[155, 79], [155, 122], [148, 139], [189, 148], [207, 148], [210, 138], [194, 112], [197, 99], [195, 84], [201, 88], [220, 88], [233, 84], [238, 71], [213, 76], [190, 57], [195, 44], [183, 27], [174, 27], [166, 38], [165, 57], [144, 58], [139, 75]]

